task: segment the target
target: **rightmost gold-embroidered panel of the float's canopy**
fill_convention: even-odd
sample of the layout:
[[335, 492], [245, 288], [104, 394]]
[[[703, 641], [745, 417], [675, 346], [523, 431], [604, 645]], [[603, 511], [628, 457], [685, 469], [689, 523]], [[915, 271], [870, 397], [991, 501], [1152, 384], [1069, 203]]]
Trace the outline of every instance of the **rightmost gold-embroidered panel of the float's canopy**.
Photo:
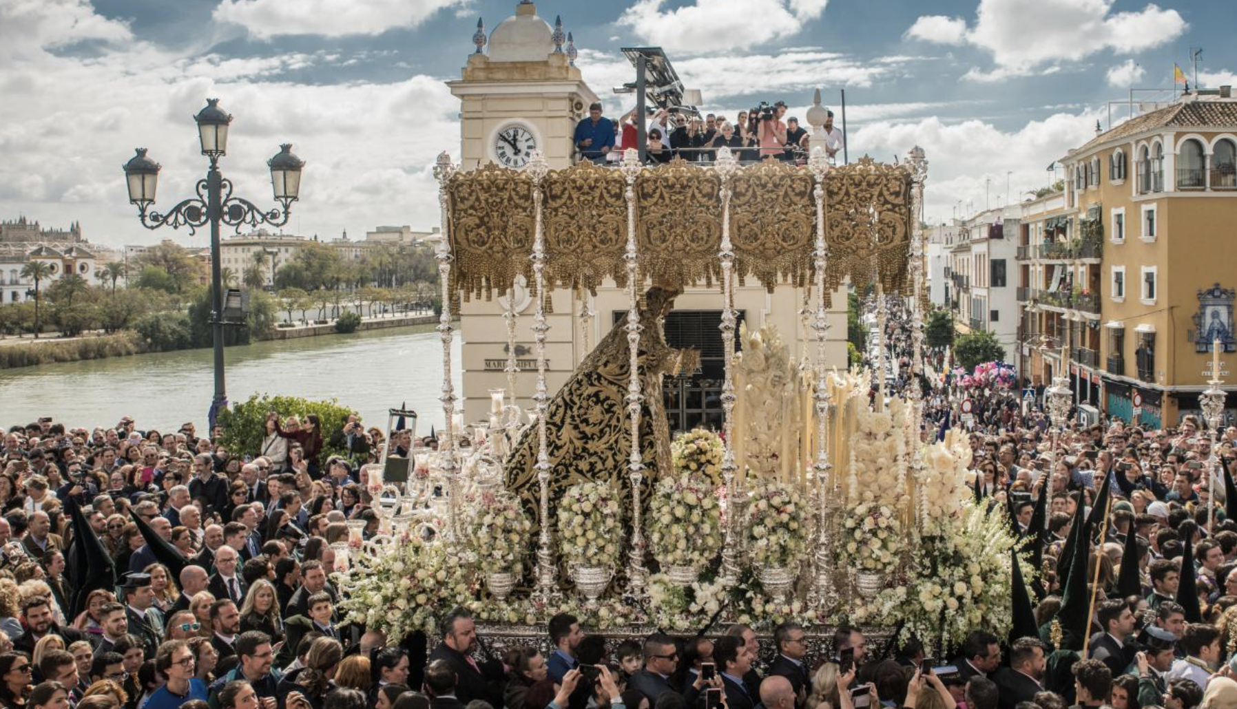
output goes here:
[[867, 283], [880, 276], [886, 293], [903, 291], [910, 249], [910, 186], [912, 173], [905, 166], [883, 165], [867, 156], [829, 171], [825, 176], [829, 290], [846, 276], [854, 283]]

